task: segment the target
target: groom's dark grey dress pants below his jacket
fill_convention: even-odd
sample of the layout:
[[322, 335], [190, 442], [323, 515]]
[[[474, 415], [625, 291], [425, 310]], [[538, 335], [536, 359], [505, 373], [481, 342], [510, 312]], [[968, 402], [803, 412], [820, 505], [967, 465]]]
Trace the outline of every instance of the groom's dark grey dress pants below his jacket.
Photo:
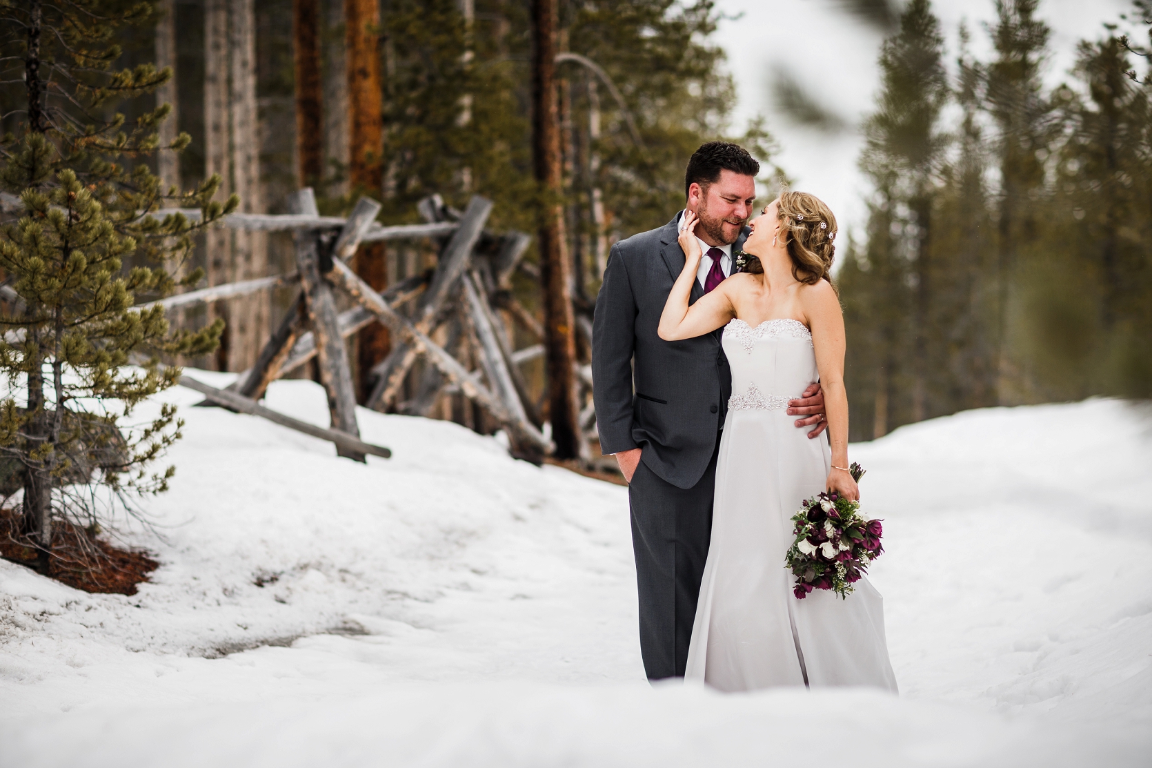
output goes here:
[[641, 461], [628, 487], [639, 592], [641, 656], [650, 680], [683, 677], [712, 536], [720, 436], [704, 475], [676, 488]]

